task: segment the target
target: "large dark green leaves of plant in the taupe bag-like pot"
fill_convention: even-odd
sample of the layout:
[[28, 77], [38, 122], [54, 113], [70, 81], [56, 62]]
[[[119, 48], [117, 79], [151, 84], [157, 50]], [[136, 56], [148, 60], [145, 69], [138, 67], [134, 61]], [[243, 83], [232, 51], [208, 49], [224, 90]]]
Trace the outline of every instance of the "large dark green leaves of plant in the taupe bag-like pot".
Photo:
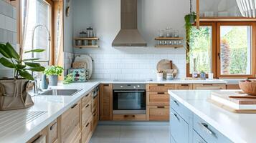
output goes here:
[[[42, 52], [44, 49], [33, 49], [30, 51], [25, 51], [27, 53]], [[0, 63], [3, 66], [14, 69], [14, 79], [25, 78], [29, 80], [34, 80], [32, 74], [29, 71], [44, 71], [44, 67], [39, 63], [36, 63], [38, 59], [22, 59], [16, 50], [9, 42], [6, 44], [0, 44], [0, 53], [2, 56], [0, 58]]]

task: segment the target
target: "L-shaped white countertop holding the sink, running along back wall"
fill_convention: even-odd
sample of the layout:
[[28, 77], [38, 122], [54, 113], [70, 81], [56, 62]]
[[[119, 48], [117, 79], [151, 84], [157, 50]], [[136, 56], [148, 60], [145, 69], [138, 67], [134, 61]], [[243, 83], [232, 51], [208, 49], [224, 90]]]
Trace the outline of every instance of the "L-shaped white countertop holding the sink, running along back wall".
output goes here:
[[[67, 109], [72, 107], [85, 94], [90, 92], [98, 84], [190, 84], [190, 83], [218, 83], [225, 84], [224, 80], [172, 80], [172, 81], [146, 81], [146, 82], [113, 82], [113, 79], [95, 79], [89, 82], [72, 83], [53, 87], [56, 89], [82, 89], [73, 96], [35, 96], [32, 97], [34, 106], [28, 109], [14, 111], [0, 111], [0, 142], [27, 142], [35, 134], [40, 132], [49, 123], [57, 119]], [[35, 119], [28, 120], [28, 114], [42, 113]], [[38, 114], [39, 114], [38, 113]], [[15, 119], [16, 118], [16, 119]], [[18, 119], [19, 118], [19, 119]], [[17, 121], [19, 120], [19, 121]]]

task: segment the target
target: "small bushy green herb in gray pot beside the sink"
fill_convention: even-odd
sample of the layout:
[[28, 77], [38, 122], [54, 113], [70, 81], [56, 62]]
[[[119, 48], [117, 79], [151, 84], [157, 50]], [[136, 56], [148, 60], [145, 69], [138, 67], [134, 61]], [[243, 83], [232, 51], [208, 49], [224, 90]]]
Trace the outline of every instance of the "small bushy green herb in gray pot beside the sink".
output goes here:
[[63, 70], [61, 66], [48, 66], [44, 70], [44, 74], [49, 78], [49, 86], [57, 86], [58, 76], [62, 75]]

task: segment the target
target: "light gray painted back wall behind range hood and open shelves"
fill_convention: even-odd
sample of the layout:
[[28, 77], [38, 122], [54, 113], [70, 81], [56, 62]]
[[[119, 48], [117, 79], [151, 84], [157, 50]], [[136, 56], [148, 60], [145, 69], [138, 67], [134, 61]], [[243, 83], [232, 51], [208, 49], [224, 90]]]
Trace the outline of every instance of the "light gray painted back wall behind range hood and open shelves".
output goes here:
[[146, 48], [114, 48], [113, 39], [120, 30], [120, 0], [74, 0], [74, 36], [93, 26], [100, 37], [100, 49], [74, 49], [90, 54], [184, 54], [184, 49], [156, 49], [158, 29], [171, 26], [184, 36], [184, 15], [189, 12], [188, 0], [138, 0], [138, 29], [147, 41]]

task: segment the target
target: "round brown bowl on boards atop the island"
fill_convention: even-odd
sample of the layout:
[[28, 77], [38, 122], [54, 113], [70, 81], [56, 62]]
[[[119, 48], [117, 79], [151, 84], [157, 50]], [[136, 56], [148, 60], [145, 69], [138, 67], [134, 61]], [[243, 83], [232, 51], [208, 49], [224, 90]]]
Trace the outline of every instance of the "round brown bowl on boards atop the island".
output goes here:
[[245, 94], [256, 96], [256, 82], [253, 81], [240, 81], [240, 89], [242, 89]]

